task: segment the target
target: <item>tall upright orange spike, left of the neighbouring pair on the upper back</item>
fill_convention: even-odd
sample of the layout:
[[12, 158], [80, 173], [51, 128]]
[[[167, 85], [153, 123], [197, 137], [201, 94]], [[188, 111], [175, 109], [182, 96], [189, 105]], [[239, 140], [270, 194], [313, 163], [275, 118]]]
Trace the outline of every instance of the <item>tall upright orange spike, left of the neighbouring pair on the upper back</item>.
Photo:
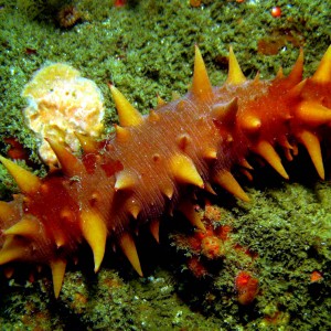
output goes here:
[[213, 95], [212, 84], [210, 82], [201, 52], [195, 45], [194, 73], [192, 82], [192, 93], [199, 98], [209, 98]]

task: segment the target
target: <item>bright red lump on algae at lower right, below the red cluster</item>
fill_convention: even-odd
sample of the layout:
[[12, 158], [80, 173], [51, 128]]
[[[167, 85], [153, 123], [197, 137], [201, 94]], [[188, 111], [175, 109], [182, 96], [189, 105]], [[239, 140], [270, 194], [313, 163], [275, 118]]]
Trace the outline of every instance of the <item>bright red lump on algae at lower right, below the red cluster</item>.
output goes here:
[[247, 271], [239, 271], [235, 278], [235, 288], [241, 305], [249, 305], [258, 292], [258, 279]]

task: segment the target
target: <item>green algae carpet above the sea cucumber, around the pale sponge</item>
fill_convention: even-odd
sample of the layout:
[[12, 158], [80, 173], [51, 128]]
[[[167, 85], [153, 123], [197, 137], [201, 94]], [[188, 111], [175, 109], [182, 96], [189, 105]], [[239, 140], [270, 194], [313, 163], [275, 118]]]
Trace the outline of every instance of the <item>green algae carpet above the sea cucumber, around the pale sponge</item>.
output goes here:
[[[18, 137], [34, 153], [33, 135], [24, 126], [20, 96], [38, 68], [47, 62], [68, 62], [82, 71], [109, 96], [107, 82], [115, 83], [141, 111], [156, 106], [156, 95], [170, 99], [173, 92], [185, 93], [192, 76], [193, 45], [197, 43], [211, 72], [213, 84], [226, 75], [224, 57], [229, 44], [236, 51], [243, 70], [249, 76], [257, 71], [271, 77], [282, 65], [289, 68], [305, 45], [307, 73], [330, 42], [327, 2], [303, 7], [302, 1], [289, 6], [280, 1], [284, 18], [270, 15], [273, 1], [249, 4], [213, 1], [191, 8], [185, 1], [141, 1], [136, 7], [114, 8], [111, 1], [72, 1], [82, 12], [83, 22], [61, 29], [56, 21], [61, 4], [66, 1], [19, 1], [1, 8], [0, 74], [1, 109], [4, 114], [0, 134]], [[23, 6], [23, 4], [24, 6]], [[51, 7], [39, 11], [41, 4]], [[306, 10], [308, 10], [306, 12]], [[318, 19], [309, 13], [319, 13]], [[258, 19], [257, 19], [258, 17]], [[323, 23], [324, 22], [324, 23]], [[273, 31], [298, 34], [300, 41], [286, 42], [278, 54], [257, 52], [258, 40]], [[316, 31], [316, 33], [311, 33]], [[26, 50], [33, 50], [30, 52]], [[310, 64], [312, 66], [310, 66]], [[106, 97], [107, 127], [116, 120], [114, 104]]]

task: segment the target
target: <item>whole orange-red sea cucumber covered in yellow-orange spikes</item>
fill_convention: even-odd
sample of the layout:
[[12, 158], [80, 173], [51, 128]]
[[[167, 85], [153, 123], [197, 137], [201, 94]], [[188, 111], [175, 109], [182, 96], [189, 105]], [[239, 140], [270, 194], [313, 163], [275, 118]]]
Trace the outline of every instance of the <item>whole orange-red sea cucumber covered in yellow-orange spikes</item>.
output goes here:
[[22, 193], [0, 203], [0, 265], [50, 265], [57, 297], [79, 245], [90, 246], [97, 271], [110, 238], [142, 275], [134, 238], [139, 226], [149, 223], [158, 241], [161, 215], [178, 207], [205, 231], [188, 199], [192, 188], [214, 192], [218, 184], [248, 202], [232, 170], [250, 177], [252, 153], [288, 179], [278, 150], [291, 160], [303, 145], [324, 178], [320, 141], [331, 127], [330, 63], [331, 46], [316, 74], [302, 81], [300, 52], [289, 76], [280, 71], [273, 81], [247, 79], [231, 49], [228, 77], [212, 87], [195, 46], [192, 88], [169, 104], [159, 99], [148, 116], [110, 86], [119, 125], [104, 142], [77, 135], [81, 158], [49, 140], [62, 168], [39, 179], [1, 157]]

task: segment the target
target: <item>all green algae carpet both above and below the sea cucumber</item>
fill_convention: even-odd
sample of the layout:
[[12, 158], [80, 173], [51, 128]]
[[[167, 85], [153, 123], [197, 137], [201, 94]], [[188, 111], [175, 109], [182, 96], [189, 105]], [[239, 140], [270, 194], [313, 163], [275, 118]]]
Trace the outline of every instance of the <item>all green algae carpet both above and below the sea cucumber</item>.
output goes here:
[[[61, 29], [56, 10], [70, 2], [82, 11], [83, 19], [71, 29]], [[31, 159], [41, 167], [39, 171], [44, 171], [36, 154], [36, 139], [22, 117], [26, 102], [21, 92], [45, 63], [70, 63], [96, 82], [105, 96], [109, 132], [117, 117], [107, 83], [115, 83], [146, 113], [156, 106], [157, 93], [167, 100], [173, 92], [185, 93], [195, 43], [215, 85], [226, 77], [225, 56], [231, 44], [244, 73], [253, 77], [259, 71], [263, 78], [274, 77], [280, 66], [288, 73], [298, 46], [305, 47], [306, 74], [312, 74], [330, 44], [328, 1], [277, 1], [284, 13], [279, 19], [270, 15], [275, 1], [202, 2], [201, 8], [191, 8], [188, 1], [131, 1], [130, 6], [114, 8], [106, 0], [30, 0], [18, 1], [17, 6], [1, 1], [1, 140], [18, 137], [31, 150]], [[277, 54], [258, 52], [259, 40], [279, 34], [291, 38]], [[6, 152], [7, 147], [0, 147]], [[15, 192], [2, 167], [0, 179], [3, 196]], [[236, 301], [234, 275], [241, 265], [233, 263], [238, 258], [236, 254], [214, 268], [212, 277], [196, 280], [188, 270], [182, 271], [182, 253], [173, 252], [166, 241], [160, 259], [173, 261], [170, 266], [161, 263], [149, 278], [122, 280], [111, 268], [105, 268], [90, 280], [72, 270], [66, 274], [57, 301], [52, 299], [50, 275], [28, 288], [8, 287], [8, 280], [2, 279], [1, 328], [328, 330], [330, 183], [313, 179], [312, 183], [300, 182], [305, 183], [299, 179], [299, 183], [284, 184], [278, 179], [278, 184], [250, 188], [252, 204], [235, 205], [222, 196], [218, 200], [228, 207], [228, 218], [234, 220], [234, 239], [258, 254], [254, 270], [260, 291], [252, 306], [241, 307]], [[312, 284], [313, 270], [322, 273], [323, 278]], [[33, 319], [36, 312], [40, 319]]]

